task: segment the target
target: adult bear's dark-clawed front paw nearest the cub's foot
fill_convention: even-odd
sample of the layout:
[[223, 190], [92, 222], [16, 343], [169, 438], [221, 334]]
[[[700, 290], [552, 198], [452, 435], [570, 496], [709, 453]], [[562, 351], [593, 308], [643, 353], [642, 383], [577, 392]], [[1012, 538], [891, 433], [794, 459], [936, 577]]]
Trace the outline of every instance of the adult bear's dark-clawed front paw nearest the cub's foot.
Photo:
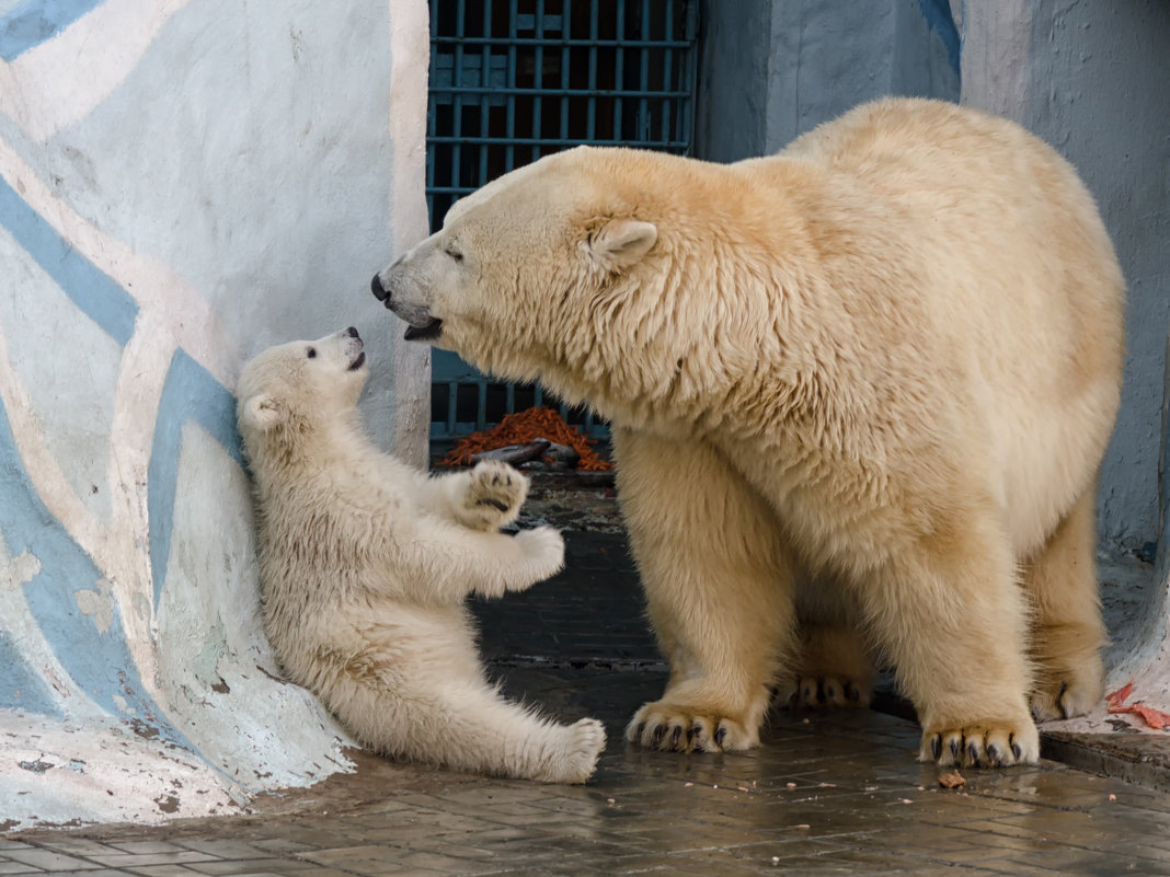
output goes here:
[[718, 711], [655, 700], [634, 713], [626, 739], [663, 752], [739, 752], [759, 745], [759, 728]]

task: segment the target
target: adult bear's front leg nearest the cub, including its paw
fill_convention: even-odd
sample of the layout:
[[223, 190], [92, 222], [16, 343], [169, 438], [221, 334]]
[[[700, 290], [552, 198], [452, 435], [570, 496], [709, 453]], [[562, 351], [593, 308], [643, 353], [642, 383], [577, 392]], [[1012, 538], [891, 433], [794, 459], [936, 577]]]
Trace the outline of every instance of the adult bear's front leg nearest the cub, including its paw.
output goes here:
[[626, 731], [661, 750], [745, 750], [792, 645], [793, 592], [770, 507], [710, 446], [613, 430], [618, 496], [670, 661]]

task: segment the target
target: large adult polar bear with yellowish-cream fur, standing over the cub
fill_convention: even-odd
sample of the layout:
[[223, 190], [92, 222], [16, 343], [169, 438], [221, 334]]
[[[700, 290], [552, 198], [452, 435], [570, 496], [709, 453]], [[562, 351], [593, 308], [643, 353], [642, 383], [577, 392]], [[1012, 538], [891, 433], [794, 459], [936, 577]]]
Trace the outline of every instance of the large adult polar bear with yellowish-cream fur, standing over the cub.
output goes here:
[[1032, 712], [1101, 696], [1123, 278], [1017, 125], [887, 99], [727, 166], [572, 150], [461, 200], [373, 291], [407, 338], [612, 421], [672, 667], [632, 740], [753, 746], [785, 676], [863, 689], [858, 629], [923, 759], [1032, 762]]

